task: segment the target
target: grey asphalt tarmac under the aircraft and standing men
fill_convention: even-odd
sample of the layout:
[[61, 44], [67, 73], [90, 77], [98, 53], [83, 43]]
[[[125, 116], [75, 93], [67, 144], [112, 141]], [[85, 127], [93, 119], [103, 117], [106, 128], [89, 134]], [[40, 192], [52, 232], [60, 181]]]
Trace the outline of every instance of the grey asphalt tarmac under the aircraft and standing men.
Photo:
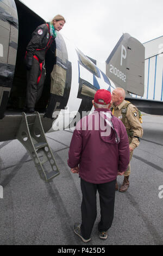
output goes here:
[[[163, 117], [145, 114], [143, 130], [131, 160], [130, 187], [116, 192], [108, 239], [98, 237], [97, 195], [89, 246], [163, 245]], [[73, 231], [81, 218], [82, 194], [78, 174], [67, 166], [71, 137], [70, 131], [47, 133], [60, 170], [50, 183], [40, 179], [20, 142], [0, 143], [0, 245], [86, 245]], [[118, 176], [118, 184], [122, 182]]]

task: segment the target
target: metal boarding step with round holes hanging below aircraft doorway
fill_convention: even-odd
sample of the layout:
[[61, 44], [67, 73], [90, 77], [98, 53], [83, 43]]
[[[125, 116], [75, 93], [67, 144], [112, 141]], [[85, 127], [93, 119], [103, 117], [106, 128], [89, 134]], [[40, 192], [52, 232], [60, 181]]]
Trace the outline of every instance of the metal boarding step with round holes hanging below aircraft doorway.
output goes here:
[[16, 138], [32, 157], [41, 179], [49, 181], [59, 175], [59, 169], [43, 131], [39, 112], [29, 115], [22, 113], [22, 122]]

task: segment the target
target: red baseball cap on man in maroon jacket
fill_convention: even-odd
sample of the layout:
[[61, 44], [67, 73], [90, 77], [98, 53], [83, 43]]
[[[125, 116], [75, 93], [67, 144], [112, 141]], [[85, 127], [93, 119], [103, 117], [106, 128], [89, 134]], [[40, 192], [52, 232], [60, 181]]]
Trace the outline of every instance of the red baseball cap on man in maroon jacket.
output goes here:
[[[103, 100], [104, 102], [99, 100]], [[98, 104], [108, 105], [111, 101], [111, 93], [108, 90], [99, 89], [94, 96], [94, 101]]]

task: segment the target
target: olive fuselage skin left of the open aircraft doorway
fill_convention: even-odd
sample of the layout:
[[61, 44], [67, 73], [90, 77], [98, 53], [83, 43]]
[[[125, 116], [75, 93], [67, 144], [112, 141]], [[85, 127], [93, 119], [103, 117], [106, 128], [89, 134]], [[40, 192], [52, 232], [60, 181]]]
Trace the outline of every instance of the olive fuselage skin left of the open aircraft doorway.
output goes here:
[[4, 117], [15, 72], [18, 17], [14, 0], [0, 2], [0, 119]]

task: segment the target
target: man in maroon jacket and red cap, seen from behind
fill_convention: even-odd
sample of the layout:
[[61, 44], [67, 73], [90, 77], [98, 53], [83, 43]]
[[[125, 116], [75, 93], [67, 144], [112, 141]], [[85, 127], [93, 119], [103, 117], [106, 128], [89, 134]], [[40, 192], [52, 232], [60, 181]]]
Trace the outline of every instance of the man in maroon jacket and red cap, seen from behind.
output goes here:
[[79, 173], [83, 194], [82, 224], [74, 224], [76, 233], [84, 242], [91, 240], [97, 216], [96, 192], [101, 206], [99, 237], [107, 238], [106, 231], [114, 218], [115, 182], [129, 164], [129, 143], [122, 121], [109, 109], [111, 94], [100, 89], [92, 101], [95, 111], [82, 118], [73, 132], [68, 166]]

